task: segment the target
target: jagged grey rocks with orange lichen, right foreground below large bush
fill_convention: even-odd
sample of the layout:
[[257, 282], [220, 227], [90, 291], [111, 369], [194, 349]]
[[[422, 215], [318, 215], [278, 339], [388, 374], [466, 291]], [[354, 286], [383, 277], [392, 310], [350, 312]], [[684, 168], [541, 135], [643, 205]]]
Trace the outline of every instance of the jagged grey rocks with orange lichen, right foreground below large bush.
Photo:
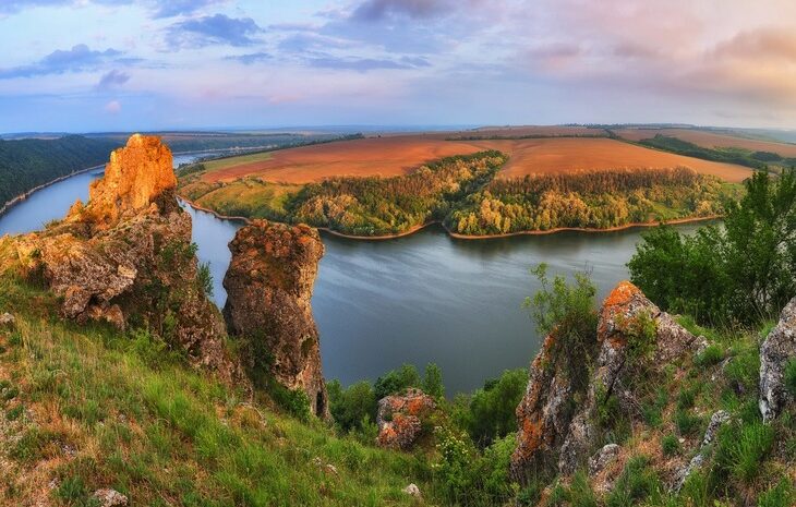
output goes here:
[[601, 403], [615, 396], [624, 413], [640, 415], [631, 389], [639, 348], [650, 349], [644, 350], [649, 358], [641, 361], [654, 370], [692, 354], [702, 340], [661, 312], [636, 286], [620, 282], [600, 310], [594, 350], [589, 352], [596, 361], [586, 393], [575, 389], [558, 367], [566, 358], [551, 355], [554, 337], [545, 340], [531, 364], [526, 396], [517, 408], [519, 431], [511, 475], [524, 481], [540, 467], [552, 468], [555, 460], [564, 475], [584, 466], [598, 444], [594, 421]]

